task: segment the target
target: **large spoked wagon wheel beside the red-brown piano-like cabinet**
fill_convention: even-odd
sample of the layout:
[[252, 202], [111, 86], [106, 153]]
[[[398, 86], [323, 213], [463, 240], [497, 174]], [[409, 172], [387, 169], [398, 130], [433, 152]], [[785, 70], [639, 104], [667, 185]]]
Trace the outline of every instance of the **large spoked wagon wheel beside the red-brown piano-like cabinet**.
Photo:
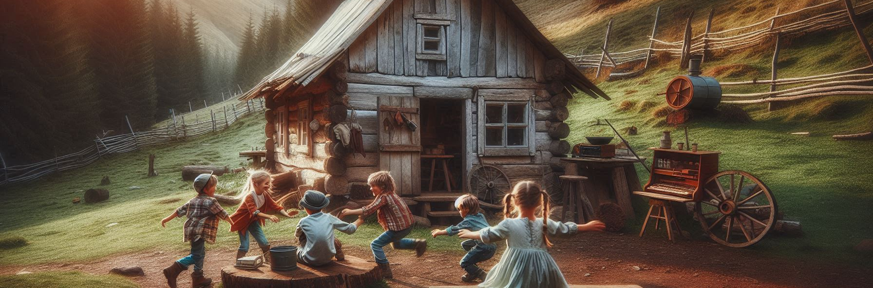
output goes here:
[[758, 243], [773, 229], [776, 209], [763, 182], [745, 171], [728, 170], [706, 179], [694, 215], [712, 240], [739, 248]]

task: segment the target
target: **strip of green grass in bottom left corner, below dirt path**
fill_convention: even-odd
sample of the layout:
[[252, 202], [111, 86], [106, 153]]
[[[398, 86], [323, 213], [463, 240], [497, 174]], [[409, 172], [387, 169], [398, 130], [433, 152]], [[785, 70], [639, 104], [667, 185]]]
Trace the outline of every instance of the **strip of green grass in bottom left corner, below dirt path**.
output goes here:
[[0, 276], [0, 288], [136, 288], [134, 282], [114, 275], [91, 275], [82, 272], [40, 272], [25, 275]]

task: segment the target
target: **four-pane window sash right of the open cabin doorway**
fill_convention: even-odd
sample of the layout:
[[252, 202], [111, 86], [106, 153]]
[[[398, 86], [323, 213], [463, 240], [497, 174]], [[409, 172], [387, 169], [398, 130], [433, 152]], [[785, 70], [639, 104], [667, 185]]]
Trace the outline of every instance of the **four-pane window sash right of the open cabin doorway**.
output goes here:
[[527, 147], [527, 102], [485, 102], [485, 147]]

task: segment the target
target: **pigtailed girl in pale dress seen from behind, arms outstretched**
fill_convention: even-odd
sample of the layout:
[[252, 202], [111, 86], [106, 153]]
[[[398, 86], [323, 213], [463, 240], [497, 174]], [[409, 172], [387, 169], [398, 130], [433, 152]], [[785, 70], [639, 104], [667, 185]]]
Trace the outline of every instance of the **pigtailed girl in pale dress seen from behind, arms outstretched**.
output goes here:
[[507, 248], [500, 262], [491, 268], [479, 287], [567, 287], [558, 264], [548, 254], [547, 249], [552, 247], [548, 237], [575, 235], [577, 231], [602, 231], [606, 225], [600, 221], [576, 225], [536, 217], [540, 211], [541, 215], [548, 215], [549, 199], [540, 185], [530, 181], [516, 184], [503, 202], [505, 219], [497, 226], [477, 232], [458, 232], [458, 237], [484, 243], [506, 241]]

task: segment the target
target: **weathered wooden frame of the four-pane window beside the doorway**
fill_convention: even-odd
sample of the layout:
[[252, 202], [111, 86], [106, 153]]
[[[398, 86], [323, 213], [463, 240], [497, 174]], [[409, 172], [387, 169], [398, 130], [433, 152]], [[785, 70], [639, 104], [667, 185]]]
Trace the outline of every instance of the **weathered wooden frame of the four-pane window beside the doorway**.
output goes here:
[[[487, 100], [478, 99], [478, 154], [479, 156], [533, 156], [536, 152], [536, 119], [533, 113], [532, 100]], [[508, 123], [508, 107], [510, 105], [525, 105], [526, 123]], [[485, 110], [487, 106], [503, 106], [503, 119], [500, 123], [485, 123]], [[500, 146], [485, 145], [485, 131], [488, 127], [502, 127], [502, 143]], [[525, 127], [524, 145], [508, 146], [507, 133], [509, 127]]]

